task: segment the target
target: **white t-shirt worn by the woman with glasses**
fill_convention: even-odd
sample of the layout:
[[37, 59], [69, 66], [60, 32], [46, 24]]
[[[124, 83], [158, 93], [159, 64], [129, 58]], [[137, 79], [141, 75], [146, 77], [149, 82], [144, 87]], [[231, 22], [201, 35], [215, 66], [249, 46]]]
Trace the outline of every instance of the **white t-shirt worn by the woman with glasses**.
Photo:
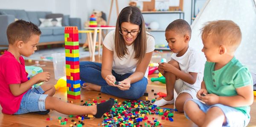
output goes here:
[[[147, 32], [147, 34], [149, 34]], [[108, 48], [109, 50], [113, 51], [113, 66], [112, 69], [118, 74], [125, 74], [125, 73], [133, 73], [136, 70], [137, 62], [138, 60], [134, 59], [135, 51], [133, 48], [133, 44], [127, 46], [128, 54], [125, 54], [124, 58], [118, 58], [116, 55], [116, 49], [115, 49], [115, 30], [110, 31], [104, 41], [103, 45]], [[154, 37], [148, 35], [147, 36], [147, 49], [146, 53], [149, 53], [151, 51], [154, 51]], [[148, 69], [145, 72], [144, 75], [146, 78], [148, 77]]]

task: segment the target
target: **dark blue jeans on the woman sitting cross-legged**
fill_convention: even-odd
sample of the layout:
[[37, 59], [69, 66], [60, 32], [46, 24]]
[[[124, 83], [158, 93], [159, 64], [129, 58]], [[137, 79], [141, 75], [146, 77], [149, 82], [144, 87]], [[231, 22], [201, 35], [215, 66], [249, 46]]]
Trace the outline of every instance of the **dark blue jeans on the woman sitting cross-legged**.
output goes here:
[[[101, 86], [100, 91], [102, 93], [107, 93], [120, 98], [137, 100], [143, 96], [148, 85], [147, 78], [143, 77], [143, 79], [140, 81], [132, 83], [129, 90], [120, 90], [117, 87], [113, 87], [107, 84], [105, 79], [102, 78], [101, 68], [101, 63], [89, 61], [80, 62], [80, 79], [84, 82]], [[133, 73], [120, 75], [112, 70], [112, 74], [116, 77], [116, 81], [120, 82], [124, 79], [127, 79]]]

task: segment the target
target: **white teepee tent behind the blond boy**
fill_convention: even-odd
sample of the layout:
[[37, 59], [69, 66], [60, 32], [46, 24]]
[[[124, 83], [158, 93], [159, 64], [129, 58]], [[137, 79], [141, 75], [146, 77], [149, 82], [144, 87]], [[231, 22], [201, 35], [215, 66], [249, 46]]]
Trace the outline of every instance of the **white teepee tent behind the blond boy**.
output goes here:
[[250, 71], [256, 72], [256, 7], [253, 0], [207, 0], [192, 23], [190, 46], [201, 50], [201, 31], [204, 23], [213, 20], [232, 20], [239, 25], [242, 41], [236, 58]]

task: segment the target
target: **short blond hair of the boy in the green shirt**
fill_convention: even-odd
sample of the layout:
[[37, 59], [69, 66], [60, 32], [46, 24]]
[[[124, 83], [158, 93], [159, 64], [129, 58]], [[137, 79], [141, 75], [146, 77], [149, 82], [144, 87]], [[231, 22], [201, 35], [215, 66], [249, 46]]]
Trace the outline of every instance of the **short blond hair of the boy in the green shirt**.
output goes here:
[[241, 43], [241, 30], [231, 20], [217, 20], [207, 22], [201, 29], [202, 39], [212, 38], [216, 45], [226, 45], [230, 51], [236, 51]]

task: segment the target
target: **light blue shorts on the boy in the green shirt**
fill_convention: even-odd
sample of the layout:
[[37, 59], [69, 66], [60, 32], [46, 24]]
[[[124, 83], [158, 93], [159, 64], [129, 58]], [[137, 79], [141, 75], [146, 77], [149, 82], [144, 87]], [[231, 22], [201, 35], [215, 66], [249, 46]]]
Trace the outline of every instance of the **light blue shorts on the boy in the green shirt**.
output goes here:
[[[207, 105], [207, 104], [204, 104], [204, 103], [200, 102], [199, 100], [195, 100], [195, 99], [189, 99], [189, 100], [198, 104], [198, 107], [204, 113], [207, 113], [207, 111], [211, 107], [219, 107], [222, 110], [222, 112], [224, 113], [226, 121], [227, 121], [226, 123], [222, 124], [222, 127], [246, 127], [249, 124], [250, 119], [248, 118], [248, 116], [245, 115], [244, 113], [242, 113], [240, 110], [237, 110], [236, 108], [226, 106], [223, 104]], [[186, 113], [185, 113], [185, 116], [186, 116]], [[188, 116], [186, 116], [186, 117], [189, 119]]]

